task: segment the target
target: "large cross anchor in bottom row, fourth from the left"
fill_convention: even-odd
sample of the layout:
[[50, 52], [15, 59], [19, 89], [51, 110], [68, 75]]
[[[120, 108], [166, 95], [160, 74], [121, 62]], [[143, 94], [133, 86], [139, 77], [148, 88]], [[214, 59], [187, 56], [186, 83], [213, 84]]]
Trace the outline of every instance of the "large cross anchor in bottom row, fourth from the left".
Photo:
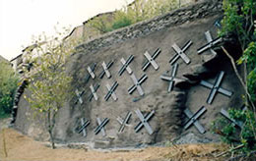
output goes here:
[[148, 122], [154, 116], [155, 111], [153, 110], [151, 113], [148, 113], [145, 117], [143, 116], [139, 109], [135, 110], [135, 113], [141, 120], [141, 122], [134, 128], [135, 132], [138, 133], [143, 127], [145, 127], [149, 134], [153, 134], [154, 132]]

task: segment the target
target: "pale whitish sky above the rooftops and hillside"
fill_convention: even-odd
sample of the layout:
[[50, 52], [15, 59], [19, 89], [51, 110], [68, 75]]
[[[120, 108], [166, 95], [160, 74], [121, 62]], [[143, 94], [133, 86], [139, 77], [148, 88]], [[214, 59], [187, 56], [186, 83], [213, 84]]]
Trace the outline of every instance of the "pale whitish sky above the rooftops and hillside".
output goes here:
[[[99, 13], [133, 0], [0, 0], [0, 55], [11, 60], [32, 44], [32, 35], [54, 27], [78, 27]], [[57, 25], [58, 24], [58, 25]]]

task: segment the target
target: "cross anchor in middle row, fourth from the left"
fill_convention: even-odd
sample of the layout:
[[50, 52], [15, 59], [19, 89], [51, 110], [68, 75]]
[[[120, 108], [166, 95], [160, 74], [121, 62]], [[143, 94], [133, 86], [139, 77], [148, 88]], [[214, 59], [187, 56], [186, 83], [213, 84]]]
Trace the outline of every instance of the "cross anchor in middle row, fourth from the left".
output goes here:
[[140, 94], [140, 95], [144, 95], [144, 91], [143, 91], [143, 89], [142, 89], [141, 84], [142, 84], [145, 80], [148, 79], [148, 76], [147, 76], [146, 74], [144, 74], [144, 75], [141, 77], [140, 80], [137, 80], [136, 77], [135, 77], [135, 75], [132, 74], [132, 75], [131, 75], [131, 79], [133, 80], [134, 85], [131, 86], [131, 87], [128, 89], [128, 93], [129, 93], [129, 94], [132, 94], [133, 91], [137, 88], [139, 94]]

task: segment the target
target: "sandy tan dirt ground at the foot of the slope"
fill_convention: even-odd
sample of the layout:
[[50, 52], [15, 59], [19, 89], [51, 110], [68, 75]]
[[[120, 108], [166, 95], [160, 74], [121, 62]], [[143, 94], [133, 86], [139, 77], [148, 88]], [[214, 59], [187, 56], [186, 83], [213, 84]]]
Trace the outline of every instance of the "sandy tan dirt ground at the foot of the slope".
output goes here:
[[92, 149], [51, 149], [42, 142], [13, 129], [0, 134], [0, 161], [169, 161], [225, 160], [215, 156], [226, 149], [224, 144], [185, 144], [148, 147], [136, 150], [99, 151]]

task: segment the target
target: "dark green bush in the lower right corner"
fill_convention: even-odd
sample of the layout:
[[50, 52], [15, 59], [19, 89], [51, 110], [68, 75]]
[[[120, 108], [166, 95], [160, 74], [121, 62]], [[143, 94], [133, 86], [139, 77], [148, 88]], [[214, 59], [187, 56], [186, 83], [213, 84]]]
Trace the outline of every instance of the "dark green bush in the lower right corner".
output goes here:
[[212, 132], [221, 134], [222, 140], [226, 143], [243, 144], [243, 148], [240, 149], [243, 152], [255, 150], [254, 129], [256, 128], [256, 121], [253, 112], [250, 110], [229, 110], [228, 114], [230, 118], [243, 125], [242, 129], [240, 130], [234, 124], [230, 124], [226, 118], [220, 118], [212, 124]]

